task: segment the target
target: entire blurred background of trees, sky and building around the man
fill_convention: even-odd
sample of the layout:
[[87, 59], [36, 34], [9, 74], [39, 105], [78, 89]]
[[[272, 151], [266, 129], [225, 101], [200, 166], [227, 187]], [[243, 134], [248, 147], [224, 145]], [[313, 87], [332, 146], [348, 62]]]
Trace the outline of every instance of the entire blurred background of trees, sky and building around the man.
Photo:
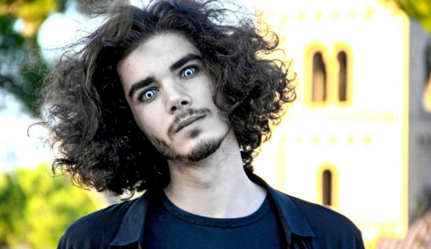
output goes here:
[[[71, 222], [119, 202], [51, 177], [48, 131], [27, 130], [61, 47], [101, 22], [83, 3], [0, 0], [0, 248], [55, 248]], [[296, 73], [256, 173], [348, 217], [367, 248], [431, 248], [431, 1], [238, 3]]]

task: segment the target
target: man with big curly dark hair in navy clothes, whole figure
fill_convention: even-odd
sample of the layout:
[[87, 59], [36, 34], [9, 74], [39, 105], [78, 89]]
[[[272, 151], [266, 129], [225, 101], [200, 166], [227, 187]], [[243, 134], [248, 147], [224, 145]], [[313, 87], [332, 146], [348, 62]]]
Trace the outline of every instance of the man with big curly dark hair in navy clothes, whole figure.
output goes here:
[[347, 218], [252, 173], [295, 91], [284, 63], [263, 57], [276, 35], [228, 14], [214, 1], [117, 4], [55, 66], [53, 169], [84, 188], [147, 190], [79, 219], [59, 248], [364, 247]]

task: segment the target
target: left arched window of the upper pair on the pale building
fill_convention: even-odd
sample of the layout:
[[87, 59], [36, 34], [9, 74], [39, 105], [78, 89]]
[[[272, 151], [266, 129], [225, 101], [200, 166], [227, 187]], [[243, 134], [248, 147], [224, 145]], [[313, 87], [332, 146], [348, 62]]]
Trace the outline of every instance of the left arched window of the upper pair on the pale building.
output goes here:
[[313, 102], [324, 102], [327, 100], [327, 75], [325, 62], [322, 54], [317, 52], [313, 56], [313, 80], [312, 95]]

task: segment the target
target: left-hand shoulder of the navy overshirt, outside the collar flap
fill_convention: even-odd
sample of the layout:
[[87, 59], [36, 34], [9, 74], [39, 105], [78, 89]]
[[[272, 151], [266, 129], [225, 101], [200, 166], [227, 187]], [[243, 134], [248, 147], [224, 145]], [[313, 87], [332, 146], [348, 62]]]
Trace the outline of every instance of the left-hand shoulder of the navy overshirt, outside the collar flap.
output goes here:
[[78, 219], [61, 236], [58, 248], [106, 248], [135, 201], [115, 204]]

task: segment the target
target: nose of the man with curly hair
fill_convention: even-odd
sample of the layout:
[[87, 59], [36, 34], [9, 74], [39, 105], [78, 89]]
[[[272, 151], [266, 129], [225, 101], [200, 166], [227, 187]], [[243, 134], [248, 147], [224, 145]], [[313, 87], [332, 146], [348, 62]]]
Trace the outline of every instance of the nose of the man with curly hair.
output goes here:
[[169, 85], [165, 88], [166, 111], [174, 114], [188, 108], [192, 104], [192, 98], [188, 94], [187, 89], [175, 82]]

